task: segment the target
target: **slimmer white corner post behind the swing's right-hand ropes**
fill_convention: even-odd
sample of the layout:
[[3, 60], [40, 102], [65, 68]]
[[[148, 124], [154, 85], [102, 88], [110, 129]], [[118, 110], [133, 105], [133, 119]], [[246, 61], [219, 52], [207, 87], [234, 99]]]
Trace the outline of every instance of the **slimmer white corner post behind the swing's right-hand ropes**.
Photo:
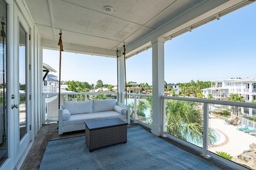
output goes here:
[[121, 103], [124, 103], [124, 95], [122, 95], [123, 92], [125, 92], [125, 77], [124, 77], [124, 56], [119, 55], [118, 59], [118, 92], [119, 94], [119, 101]]

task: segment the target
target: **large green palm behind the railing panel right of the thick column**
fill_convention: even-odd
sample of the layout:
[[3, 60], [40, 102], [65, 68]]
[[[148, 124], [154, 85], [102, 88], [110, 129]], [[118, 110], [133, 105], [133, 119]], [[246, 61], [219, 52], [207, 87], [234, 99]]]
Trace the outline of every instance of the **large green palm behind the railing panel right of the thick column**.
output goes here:
[[[166, 101], [166, 132], [192, 143], [202, 143], [203, 117], [196, 103]], [[209, 143], [214, 144], [216, 136], [209, 128]]]

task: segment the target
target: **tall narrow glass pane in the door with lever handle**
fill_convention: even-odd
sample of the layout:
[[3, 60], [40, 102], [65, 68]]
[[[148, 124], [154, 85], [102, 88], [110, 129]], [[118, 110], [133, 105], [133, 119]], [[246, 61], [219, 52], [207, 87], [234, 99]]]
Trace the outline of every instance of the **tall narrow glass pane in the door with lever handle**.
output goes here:
[[20, 24], [19, 26], [19, 120], [20, 140], [27, 133], [26, 124], [26, 44], [27, 33]]

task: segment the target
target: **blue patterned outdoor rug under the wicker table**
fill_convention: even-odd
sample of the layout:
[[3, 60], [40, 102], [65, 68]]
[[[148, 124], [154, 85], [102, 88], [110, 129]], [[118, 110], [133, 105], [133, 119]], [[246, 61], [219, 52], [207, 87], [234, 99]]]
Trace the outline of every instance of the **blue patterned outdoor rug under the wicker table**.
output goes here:
[[39, 169], [220, 169], [136, 126], [127, 143], [89, 152], [85, 136], [49, 141]]

